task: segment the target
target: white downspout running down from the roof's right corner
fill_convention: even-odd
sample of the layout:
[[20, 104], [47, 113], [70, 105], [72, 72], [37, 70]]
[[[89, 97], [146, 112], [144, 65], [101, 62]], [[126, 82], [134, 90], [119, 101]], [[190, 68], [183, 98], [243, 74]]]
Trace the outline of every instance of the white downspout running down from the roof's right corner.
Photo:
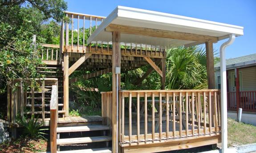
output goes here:
[[228, 41], [220, 46], [220, 78], [221, 78], [221, 152], [228, 153], [228, 109], [227, 109], [227, 75], [225, 48], [235, 41], [236, 35], [230, 34]]

